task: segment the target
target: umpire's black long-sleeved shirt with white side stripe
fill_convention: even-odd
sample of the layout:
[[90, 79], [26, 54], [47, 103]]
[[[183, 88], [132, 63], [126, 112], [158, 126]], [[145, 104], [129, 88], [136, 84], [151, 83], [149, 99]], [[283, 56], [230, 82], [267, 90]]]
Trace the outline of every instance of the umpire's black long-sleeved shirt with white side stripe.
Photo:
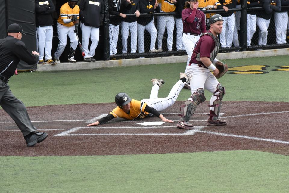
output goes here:
[[21, 40], [13, 36], [0, 39], [0, 74], [7, 79], [13, 76], [20, 60], [34, 65], [38, 59], [39, 56], [32, 55]]

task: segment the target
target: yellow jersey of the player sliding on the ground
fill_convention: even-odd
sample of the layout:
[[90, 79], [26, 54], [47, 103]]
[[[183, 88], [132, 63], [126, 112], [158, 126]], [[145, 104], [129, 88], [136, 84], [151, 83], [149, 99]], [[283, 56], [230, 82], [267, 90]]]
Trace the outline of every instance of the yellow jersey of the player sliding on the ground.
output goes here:
[[120, 117], [128, 120], [144, 118], [149, 114], [148, 112], [144, 111], [146, 106], [146, 103], [132, 99], [130, 102], [129, 114], [124, 112], [120, 107], [113, 109], [110, 114], [112, 114], [115, 118]]

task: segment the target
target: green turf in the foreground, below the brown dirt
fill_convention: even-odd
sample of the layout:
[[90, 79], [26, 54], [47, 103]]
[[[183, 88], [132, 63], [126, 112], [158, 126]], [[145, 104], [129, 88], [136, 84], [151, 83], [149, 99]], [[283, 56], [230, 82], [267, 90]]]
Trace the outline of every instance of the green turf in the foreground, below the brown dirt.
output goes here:
[[287, 193], [289, 157], [258, 151], [0, 157], [5, 193]]

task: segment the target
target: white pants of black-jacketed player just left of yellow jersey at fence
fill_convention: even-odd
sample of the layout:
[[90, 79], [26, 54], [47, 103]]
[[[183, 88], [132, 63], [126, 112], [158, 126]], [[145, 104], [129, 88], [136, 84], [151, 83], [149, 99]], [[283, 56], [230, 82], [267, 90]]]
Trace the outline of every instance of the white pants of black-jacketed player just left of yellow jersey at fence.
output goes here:
[[156, 49], [156, 39], [157, 39], [157, 29], [154, 26], [154, 20], [152, 20], [148, 25], [143, 26], [138, 24], [138, 52], [144, 53], [144, 30], [147, 30], [151, 34], [151, 50]]

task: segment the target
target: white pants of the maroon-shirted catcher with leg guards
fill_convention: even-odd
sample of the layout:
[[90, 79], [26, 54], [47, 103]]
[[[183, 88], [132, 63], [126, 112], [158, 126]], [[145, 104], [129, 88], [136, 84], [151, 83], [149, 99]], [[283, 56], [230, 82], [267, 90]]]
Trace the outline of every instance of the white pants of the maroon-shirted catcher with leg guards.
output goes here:
[[[191, 84], [191, 93], [197, 92], [197, 89], [203, 88], [211, 93], [217, 90], [219, 84], [215, 76], [210, 72], [210, 69], [199, 67], [198, 64], [191, 64], [191, 66], [186, 67], [185, 73], [188, 76]], [[218, 95], [219, 92], [216, 92], [215, 95]], [[213, 102], [217, 99], [216, 96], [211, 97], [210, 105], [213, 105]], [[188, 98], [192, 101], [192, 98]], [[214, 110], [214, 107], [210, 107], [210, 110]]]

